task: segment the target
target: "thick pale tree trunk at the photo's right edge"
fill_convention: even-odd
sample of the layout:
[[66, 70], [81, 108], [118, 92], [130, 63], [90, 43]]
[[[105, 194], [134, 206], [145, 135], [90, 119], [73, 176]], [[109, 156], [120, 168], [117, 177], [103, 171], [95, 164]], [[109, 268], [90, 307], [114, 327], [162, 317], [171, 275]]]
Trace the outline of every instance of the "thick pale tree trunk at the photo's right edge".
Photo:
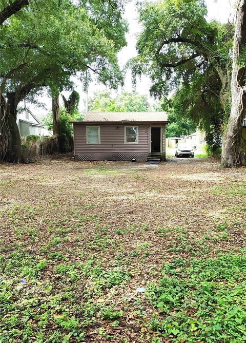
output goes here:
[[[227, 129], [222, 139], [222, 166], [232, 167], [245, 163], [242, 153], [242, 122], [246, 109], [245, 54], [246, 0], [237, 1], [232, 65], [232, 107]], [[241, 60], [240, 60], [241, 59]], [[245, 61], [245, 57], [244, 57]]]

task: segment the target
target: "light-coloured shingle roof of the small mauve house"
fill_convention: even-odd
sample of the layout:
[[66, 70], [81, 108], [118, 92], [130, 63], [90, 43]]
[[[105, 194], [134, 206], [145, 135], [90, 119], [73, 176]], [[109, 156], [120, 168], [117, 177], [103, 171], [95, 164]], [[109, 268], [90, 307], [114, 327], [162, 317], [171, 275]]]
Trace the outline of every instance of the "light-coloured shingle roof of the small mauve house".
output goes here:
[[167, 122], [167, 112], [88, 112], [84, 122]]

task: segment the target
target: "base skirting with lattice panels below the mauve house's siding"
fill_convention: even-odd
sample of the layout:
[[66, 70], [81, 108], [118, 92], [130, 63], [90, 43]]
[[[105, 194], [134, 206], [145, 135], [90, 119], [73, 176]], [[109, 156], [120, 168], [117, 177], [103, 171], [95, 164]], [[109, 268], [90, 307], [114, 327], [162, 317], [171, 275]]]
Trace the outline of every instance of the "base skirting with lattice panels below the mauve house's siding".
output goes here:
[[146, 161], [148, 153], [111, 153], [111, 154], [78, 154], [75, 155], [75, 160], [79, 161], [95, 161], [95, 160], [108, 160], [108, 161]]

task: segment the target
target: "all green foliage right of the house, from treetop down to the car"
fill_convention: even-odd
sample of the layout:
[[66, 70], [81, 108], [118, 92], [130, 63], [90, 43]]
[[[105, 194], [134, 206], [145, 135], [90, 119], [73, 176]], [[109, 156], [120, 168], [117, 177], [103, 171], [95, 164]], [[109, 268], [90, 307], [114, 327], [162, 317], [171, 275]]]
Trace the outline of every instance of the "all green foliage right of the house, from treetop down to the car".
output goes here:
[[233, 25], [207, 22], [201, 0], [147, 2], [139, 15], [138, 55], [129, 62], [133, 78], [148, 74], [155, 97], [175, 90], [169, 116], [177, 120], [171, 119], [168, 136], [189, 132], [191, 124], [216, 150], [230, 107]]

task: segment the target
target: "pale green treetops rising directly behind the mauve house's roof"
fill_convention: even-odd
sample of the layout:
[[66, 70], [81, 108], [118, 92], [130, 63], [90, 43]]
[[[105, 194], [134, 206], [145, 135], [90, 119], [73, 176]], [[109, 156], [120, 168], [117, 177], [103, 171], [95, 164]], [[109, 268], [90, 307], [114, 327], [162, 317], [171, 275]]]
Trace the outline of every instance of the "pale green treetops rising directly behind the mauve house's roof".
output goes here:
[[147, 112], [148, 98], [136, 92], [122, 92], [112, 98], [109, 91], [97, 92], [89, 100], [89, 110], [94, 112]]

